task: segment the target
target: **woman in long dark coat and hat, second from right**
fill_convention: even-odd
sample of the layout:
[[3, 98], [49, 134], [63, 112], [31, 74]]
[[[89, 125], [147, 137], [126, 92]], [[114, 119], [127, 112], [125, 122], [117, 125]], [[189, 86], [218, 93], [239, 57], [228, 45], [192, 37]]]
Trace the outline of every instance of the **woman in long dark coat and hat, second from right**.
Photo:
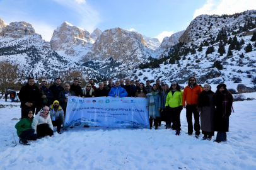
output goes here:
[[214, 92], [211, 91], [209, 84], [204, 84], [204, 90], [200, 93], [197, 100], [197, 111], [200, 113], [201, 130], [203, 140], [211, 140], [214, 136], [213, 116], [215, 111]]

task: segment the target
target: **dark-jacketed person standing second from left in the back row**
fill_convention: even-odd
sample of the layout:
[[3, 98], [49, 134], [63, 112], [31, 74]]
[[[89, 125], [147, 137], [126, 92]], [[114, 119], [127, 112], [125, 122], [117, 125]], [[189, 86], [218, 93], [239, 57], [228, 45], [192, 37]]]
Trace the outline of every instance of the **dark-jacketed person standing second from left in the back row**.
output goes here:
[[39, 101], [37, 105], [37, 111], [35, 111], [35, 115], [37, 115], [38, 111], [40, 111], [44, 106], [50, 106], [51, 99], [54, 98], [54, 94], [52, 91], [47, 88], [47, 81], [42, 81], [41, 88], [39, 89]]

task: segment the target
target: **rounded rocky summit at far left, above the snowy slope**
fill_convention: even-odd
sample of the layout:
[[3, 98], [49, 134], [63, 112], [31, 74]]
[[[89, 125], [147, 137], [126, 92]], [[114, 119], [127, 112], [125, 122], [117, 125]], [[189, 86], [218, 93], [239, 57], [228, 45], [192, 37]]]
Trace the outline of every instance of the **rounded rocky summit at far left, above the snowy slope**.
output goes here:
[[35, 30], [33, 26], [26, 22], [13, 22], [2, 28], [0, 36], [11, 37], [11, 38], [21, 38], [25, 35], [33, 35]]

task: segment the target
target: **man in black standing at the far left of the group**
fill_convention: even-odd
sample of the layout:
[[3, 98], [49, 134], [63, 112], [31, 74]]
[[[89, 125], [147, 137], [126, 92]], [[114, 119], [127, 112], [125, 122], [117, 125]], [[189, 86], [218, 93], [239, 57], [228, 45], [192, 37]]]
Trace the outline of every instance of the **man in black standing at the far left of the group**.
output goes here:
[[27, 109], [32, 109], [33, 113], [35, 113], [35, 108], [37, 107], [39, 98], [39, 89], [35, 86], [33, 78], [29, 78], [26, 85], [20, 89], [19, 98], [21, 101], [21, 118], [23, 118]]

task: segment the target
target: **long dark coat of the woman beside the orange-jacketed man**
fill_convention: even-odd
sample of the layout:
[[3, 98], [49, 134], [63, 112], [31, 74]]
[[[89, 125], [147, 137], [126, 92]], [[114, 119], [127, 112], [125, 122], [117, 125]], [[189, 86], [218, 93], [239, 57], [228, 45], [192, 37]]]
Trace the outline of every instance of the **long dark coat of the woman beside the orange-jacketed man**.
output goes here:
[[[203, 106], [202, 103], [204, 103], [202, 99], [204, 96], [207, 95], [209, 96], [209, 106], [205, 105]], [[206, 131], [206, 132], [214, 132], [214, 124], [213, 124], [213, 118], [214, 118], [214, 112], [215, 112], [215, 106], [214, 106], [214, 93], [212, 94], [206, 94], [205, 91], [202, 91], [202, 93], [199, 96], [198, 100], [198, 107], [197, 111], [202, 111], [200, 114], [201, 118], [201, 130]]]

